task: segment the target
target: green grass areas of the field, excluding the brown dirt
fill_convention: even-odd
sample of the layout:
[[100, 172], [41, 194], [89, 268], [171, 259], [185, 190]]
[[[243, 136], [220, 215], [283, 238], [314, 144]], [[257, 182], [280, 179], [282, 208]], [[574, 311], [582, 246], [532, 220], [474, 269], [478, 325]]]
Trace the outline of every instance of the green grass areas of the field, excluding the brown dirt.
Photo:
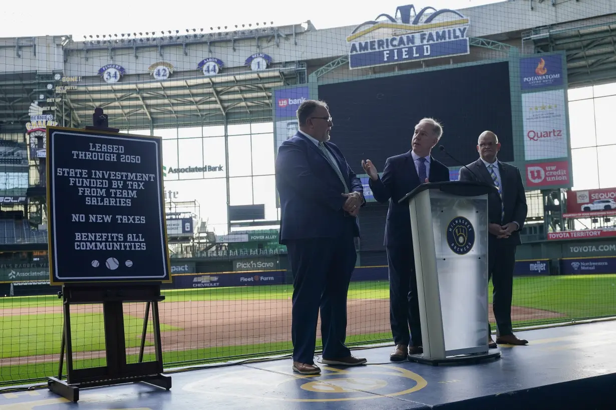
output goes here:
[[[289, 299], [292, 285], [245, 286], [235, 288], [198, 288], [187, 290], [163, 290], [164, 303], [187, 301], [250, 301]], [[492, 286], [489, 299], [492, 301]], [[349, 287], [349, 299], [388, 299], [387, 281], [353, 282]], [[517, 324], [535, 325], [554, 321], [606, 317], [616, 315], [616, 275], [567, 275], [514, 278], [514, 306], [549, 310], [561, 313], [559, 318], [517, 321]], [[0, 298], [0, 309], [25, 309], [62, 306], [57, 296], [31, 296]], [[45, 353], [59, 353], [62, 329], [62, 313], [25, 315], [15, 312], [0, 317], [0, 358], [24, 357]], [[30, 312], [31, 313], [31, 312]], [[188, 312], [187, 312], [188, 313]], [[104, 350], [103, 318], [101, 313], [74, 313], [73, 349], [75, 352]], [[127, 347], [139, 345], [142, 318], [125, 315]], [[150, 323], [151, 326], [151, 323]], [[162, 331], [173, 328], [161, 325]], [[391, 334], [360, 334], [347, 339], [349, 345], [389, 341]], [[236, 358], [260, 357], [269, 354], [288, 353], [291, 342], [254, 345], [238, 345], [164, 352], [168, 365], [185, 365], [195, 362], [225, 361]], [[148, 355], [146, 355], [147, 360]], [[136, 361], [136, 356], [129, 360]], [[76, 361], [76, 367], [94, 366], [101, 360]], [[49, 376], [57, 372], [57, 363], [11, 365], [0, 367], [0, 383], [17, 379]]]

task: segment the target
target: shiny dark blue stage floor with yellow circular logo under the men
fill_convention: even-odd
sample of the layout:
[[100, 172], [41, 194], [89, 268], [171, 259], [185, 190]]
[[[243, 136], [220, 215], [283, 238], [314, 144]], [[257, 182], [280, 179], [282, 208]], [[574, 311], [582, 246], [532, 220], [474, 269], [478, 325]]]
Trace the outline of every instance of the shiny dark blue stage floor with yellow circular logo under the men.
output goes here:
[[147, 384], [82, 389], [78, 403], [46, 388], [0, 395], [0, 410], [59, 409], [616, 409], [616, 321], [519, 332], [527, 346], [474, 365], [389, 363], [392, 347], [355, 350], [368, 365], [301, 376], [291, 360], [168, 373]]

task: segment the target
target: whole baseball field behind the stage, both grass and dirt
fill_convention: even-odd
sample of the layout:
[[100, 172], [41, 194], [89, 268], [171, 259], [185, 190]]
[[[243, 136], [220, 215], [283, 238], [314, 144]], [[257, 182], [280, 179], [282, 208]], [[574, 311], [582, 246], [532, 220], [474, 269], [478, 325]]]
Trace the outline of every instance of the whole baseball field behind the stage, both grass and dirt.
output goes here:
[[[540, 325], [616, 315], [615, 283], [616, 275], [516, 277], [514, 323]], [[163, 294], [161, 336], [168, 367], [290, 352], [291, 285], [164, 290]], [[389, 283], [351, 283], [347, 306], [348, 344], [391, 342]], [[137, 361], [144, 310], [145, 304], [125, 305], [127, 355], [132, 362]], [[0, 298], [0, 384], [57, 374], [62, 323], [62, 301], [57, 296]], [[73, 307], [71, 326], [75, 367], [103, 364], [102, 306]], [[151, 323], [148, 327], [151, 331]], [[145, 360], [152, 357], [152, 345], [148, 333]]]

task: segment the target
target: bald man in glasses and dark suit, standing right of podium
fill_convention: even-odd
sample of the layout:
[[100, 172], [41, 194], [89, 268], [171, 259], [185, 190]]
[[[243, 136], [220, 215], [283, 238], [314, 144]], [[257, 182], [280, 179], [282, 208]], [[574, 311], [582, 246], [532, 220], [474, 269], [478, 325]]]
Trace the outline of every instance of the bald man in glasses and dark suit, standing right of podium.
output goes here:
[[511, 325], [516, 246], [522, 244], [520, 230], [528, 208], [520, 171], [496, 158], [500, 147], [495, 133], [482, 132], [477, 141], [479, 159], [462, 167], [459, 178], [498, 188], [498, 193], [488, 194], [488, 280], [492, 278], [492, 306], [496, 318], [496, 342], [490, 334], [490, 348], [495, 348], [496, 344], [528, 343], [513, 334]]

